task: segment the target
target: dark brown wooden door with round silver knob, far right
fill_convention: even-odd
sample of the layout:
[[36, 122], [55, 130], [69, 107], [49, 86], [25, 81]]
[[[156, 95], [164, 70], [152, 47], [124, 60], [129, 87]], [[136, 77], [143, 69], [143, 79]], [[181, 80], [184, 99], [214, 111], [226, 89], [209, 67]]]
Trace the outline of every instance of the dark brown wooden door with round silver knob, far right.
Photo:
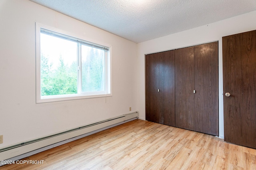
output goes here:
[[256, 30], [222, 37], [222, 48], [224, 140], [256, 148]]

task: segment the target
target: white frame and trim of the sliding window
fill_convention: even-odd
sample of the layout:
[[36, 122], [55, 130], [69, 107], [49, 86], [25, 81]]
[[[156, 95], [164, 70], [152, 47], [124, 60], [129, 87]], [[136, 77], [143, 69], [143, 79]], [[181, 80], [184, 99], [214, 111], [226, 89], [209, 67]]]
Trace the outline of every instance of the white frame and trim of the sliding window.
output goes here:
[[[105, 57], [105, 91], [100, 92], [88, 92], [80, 93], [80, 84], [78, 84], [78, 94], [65, 94], [65, 95], [52, 95], [52, 96], [41, 96], [41, 50], [40, 50], [40, 33], [41, 29], [45, 29], [60, 35], [64, 35], [66, 37], [71, 37], [76, 41], [81, 41], [88, 43], [90, 45], [97, 45], [100, 47], [108, 48], [108, 52]], [[45, 103], [45, 102], [57, 102], [57, 101], [64, 101], [64, 100], [78, 100], [78, 99], [86, 99], [86, 98], [100, 98], [100, 97], [108, 97], [112, 96], [112, 80], [111, 80], [111, 51], [112, 46], [106, 45], [104, 43], [99, 43], [95, 41], [85, 41], [84, 38], [80, 38], [78, 35], [74, 35], [67, 31], [63, 31], [54, 27], [50, 27], [41, 23], [36, 22], [36, 103]], [[80, 65], [80, 61], [79, 61]], [[81, 80], [81, 76], [79, 75], [79, 81]]]

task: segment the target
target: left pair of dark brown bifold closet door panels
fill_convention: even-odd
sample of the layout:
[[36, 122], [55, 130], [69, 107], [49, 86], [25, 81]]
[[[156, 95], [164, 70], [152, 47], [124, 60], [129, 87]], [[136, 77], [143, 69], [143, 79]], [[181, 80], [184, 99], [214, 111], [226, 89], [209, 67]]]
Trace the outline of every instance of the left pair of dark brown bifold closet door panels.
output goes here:
[[174, 51], [146, 55], [146, 120], [175, 126]]

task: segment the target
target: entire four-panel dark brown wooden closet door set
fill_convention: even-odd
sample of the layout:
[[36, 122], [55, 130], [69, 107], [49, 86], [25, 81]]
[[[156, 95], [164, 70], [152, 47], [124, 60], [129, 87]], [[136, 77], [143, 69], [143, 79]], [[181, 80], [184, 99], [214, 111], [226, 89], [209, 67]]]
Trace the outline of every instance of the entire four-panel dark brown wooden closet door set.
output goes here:
[[218, 136], [218, 42], [146, 55], [146, 120]]

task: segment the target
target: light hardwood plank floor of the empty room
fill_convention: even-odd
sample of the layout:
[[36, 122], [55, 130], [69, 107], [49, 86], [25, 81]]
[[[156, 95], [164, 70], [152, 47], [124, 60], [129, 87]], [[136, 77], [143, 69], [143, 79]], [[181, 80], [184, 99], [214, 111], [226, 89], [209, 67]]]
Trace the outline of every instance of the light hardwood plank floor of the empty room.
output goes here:
[[158, 123], [134, 120], [4, 165], [4, 170], [256, 170], [256, 149]]

